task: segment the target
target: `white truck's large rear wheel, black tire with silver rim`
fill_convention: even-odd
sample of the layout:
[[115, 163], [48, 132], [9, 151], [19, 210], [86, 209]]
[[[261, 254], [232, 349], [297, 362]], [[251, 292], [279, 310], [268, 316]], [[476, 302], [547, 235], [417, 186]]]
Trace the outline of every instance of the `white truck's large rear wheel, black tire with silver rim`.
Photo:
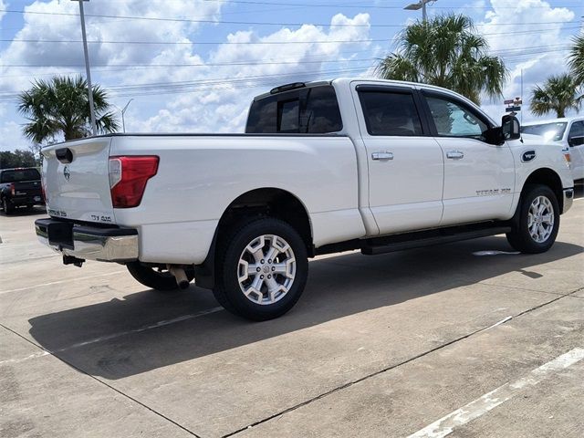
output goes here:
[[215, 261], [215, 298], [254, 321], [293, 308], [308, 278], [305, 242], [290, 224], [273, 218], [239, 224], [219, 243]]

